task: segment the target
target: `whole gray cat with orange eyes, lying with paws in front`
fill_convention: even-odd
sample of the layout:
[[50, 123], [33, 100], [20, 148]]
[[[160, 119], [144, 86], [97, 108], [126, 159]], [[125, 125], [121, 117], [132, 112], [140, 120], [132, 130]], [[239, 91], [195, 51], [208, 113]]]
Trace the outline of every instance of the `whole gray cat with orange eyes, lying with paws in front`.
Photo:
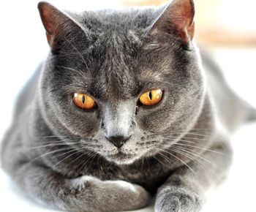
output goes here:
[[20, 94], [4, 170], [64, 211], [200, 211], [228, 132], [256, 119], [199, 53], [192, 0], [62, 12], [39, 3], [50, 53]]

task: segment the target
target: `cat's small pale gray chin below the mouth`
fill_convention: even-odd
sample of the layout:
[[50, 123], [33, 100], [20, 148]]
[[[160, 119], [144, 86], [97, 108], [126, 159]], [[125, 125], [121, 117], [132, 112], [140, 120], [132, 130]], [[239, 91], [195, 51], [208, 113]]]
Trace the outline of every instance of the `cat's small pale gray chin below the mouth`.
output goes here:
[[135, 154], [124, 154], [118, 153], [106, 156], [108, 161], [115, 162], [116, 164], [132, 164], [135, 160], [139, 159], [140, 156]]

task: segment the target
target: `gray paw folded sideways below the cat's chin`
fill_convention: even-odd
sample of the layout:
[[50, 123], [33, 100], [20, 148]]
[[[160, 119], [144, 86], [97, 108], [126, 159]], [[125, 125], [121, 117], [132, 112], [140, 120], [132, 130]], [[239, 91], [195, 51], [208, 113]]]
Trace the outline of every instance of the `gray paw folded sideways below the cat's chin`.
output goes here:
[[145, 207], [151, 199], [143, 187], [126, 181], [100, 181], [83, 176], [73, 179], [71, 184], [76, 197], [86, 200], [85, 211], [131, 211]]

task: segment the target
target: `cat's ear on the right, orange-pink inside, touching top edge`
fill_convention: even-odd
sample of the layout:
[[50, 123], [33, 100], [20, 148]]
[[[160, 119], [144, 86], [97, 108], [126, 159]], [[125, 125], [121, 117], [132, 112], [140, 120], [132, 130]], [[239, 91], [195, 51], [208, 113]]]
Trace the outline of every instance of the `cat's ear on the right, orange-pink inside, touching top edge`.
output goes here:
[[176, 31], [184, 42], [193, 39], [195, 33], [195, 4], [193, 0], [173, 0], [151, 27], [150, 34], [173, 34]]

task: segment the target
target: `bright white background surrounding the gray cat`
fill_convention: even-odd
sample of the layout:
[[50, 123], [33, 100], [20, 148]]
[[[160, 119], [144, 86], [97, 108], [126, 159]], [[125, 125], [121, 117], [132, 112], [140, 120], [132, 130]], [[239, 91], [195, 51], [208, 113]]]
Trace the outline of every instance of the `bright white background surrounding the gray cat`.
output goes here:
[[[114, 1], [50, 1], [68, 10], [112, 7]], [[101, 4], [99, 4], [101, 2]], [[0, 3], [0, 138], [10, 124], [12, 108], [20, 89], [48, 53], [45, 31], [39, 20], [37, 1]], [[256, 48], [214, 48], [230, 85], [256, 107]], [[203, 211], [256, 211], [256, 124], [233, 136], [233, 167], [227, 181], [211, 193]], [[0, 211], [48, 211], [34, 205], [10, 183], [0, 169]], [[148, 209], [150, 211], [150, 209]]]

